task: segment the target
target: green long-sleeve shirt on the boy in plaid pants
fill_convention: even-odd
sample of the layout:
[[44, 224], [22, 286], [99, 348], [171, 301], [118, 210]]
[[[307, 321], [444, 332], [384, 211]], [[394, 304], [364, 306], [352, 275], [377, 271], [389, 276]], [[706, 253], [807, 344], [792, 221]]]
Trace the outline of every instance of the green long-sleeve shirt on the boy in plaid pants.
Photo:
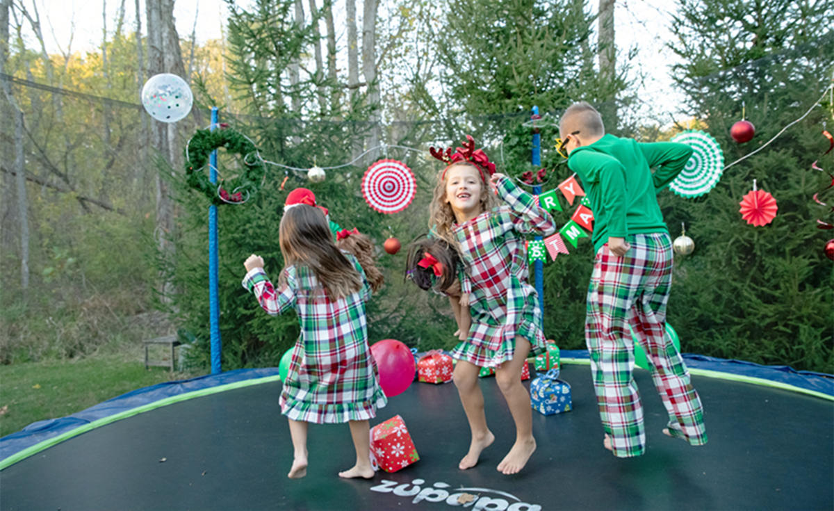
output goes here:
[[686, 144], [641, 144], [612, 134], [571, 151], [568, 166], [579, 175], [594, 212], [594, 250], [609, 236], [668, 232], [656, 195], [691, 155]]

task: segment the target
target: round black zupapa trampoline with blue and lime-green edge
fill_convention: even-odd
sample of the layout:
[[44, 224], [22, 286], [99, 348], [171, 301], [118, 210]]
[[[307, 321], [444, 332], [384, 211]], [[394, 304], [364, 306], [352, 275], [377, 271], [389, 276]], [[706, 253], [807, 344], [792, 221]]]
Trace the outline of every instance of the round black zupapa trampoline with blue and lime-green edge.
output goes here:
[[[619, 459], [602, 448], [587, 360], [581, 352], [562, 356], [560, 378], [571, 385], [573, 410], [533, 412], [538, 448], [512, 476], [495, 466], [515, 428], [495, 378], [484, 378], [496, 440], [477, 467], [457, 468], [469, 432], [454, 384], [414, 382], [371, 425], [403, 417], [418, 462], [371, 480], [340, 479], [336, 473], [354, 463], [347, 425], [311, 425], [308, 475], [290, 480], [281, 383], [277, 370], [259, 369], [140, 389], [0, 438], [0, 508], [834, 508], [834, 380], [828, 375], [686, 356], [709, 436], [705, 446], [691, 447], [661, 433], [666, 411], [649, 373], [636, 369], [647, 449], [642, 457]], [[441, 498], [460, 491], [475, 501], [464, 506]]]

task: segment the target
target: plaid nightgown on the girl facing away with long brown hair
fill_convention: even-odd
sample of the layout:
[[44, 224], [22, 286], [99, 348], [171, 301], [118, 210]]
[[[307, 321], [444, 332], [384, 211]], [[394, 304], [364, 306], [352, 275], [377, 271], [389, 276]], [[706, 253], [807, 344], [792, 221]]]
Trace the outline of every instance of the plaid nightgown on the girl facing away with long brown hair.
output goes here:
[[293, 348], [287, 381], [281, 391], [281, 412], [304, 422], [363, 421], [376, 416], [387, 399], [368, 347], [364, 302], [370, 286], [353, 255], [344, 253], [362, 276], [358, 292], [330, 300], [307, 266], [287, 266], [286, 284], [276, 291], [262, 268], [244, 278], [264, 311], [275, 316], [293, 309], [301, 336]]

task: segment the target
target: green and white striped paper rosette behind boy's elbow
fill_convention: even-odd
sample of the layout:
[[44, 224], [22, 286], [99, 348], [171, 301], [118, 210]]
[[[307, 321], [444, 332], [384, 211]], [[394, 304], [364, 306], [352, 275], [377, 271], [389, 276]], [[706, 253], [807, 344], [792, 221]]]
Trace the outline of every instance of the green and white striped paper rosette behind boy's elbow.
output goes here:
[[676, 134], [671, 142], [689, 145], [693, 151], [686, 167], [669, 188], [681, 197], [700, 197], [715, 188], [724, 171], [724, 153], [711, 134], [692, 130]]

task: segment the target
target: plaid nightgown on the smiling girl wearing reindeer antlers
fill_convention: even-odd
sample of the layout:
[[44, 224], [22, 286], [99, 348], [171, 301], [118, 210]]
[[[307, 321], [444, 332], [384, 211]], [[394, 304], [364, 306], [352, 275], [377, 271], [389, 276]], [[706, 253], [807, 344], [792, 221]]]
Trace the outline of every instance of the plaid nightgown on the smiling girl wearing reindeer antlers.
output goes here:
[[549, 235], [555, 225], [533, 196], [510, 179], [499, 180], [497, 186], [504, 205], [452, 230], [469, 276], [462, 286], [472, 287], [469, 338], [458, 343], [452, 356], [480, 367], [512, 360], [515, 336], [530, 341], [531, 355], [545, 352], [539, 297], [527, 282], [527, 253], [520, 233]]

